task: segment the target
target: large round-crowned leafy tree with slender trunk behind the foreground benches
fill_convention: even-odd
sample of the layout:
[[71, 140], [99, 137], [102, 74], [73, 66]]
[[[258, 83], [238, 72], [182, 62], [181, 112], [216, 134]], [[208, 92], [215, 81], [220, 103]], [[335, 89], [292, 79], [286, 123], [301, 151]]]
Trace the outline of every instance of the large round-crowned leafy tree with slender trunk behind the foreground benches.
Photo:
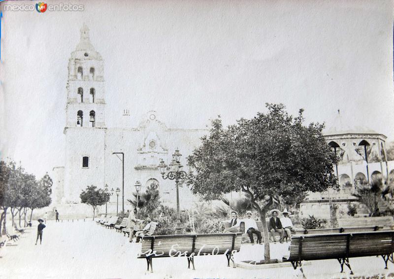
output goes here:
[[[209, 135], [188, 157], [187, 184], [195, 194], [215, 197], [242, 191], [265, 220], [279, 197], [301, 196], [337, 188], [333, 166], [338, 161], [322, 130], [304, 126], [303, 110], [289, 115], [283, 104], [266, 104], [267, 112], [239, 119], [223, 128], [212, 121]], [[270, 262], [269, 235], [263, 222], [264, 260]]]

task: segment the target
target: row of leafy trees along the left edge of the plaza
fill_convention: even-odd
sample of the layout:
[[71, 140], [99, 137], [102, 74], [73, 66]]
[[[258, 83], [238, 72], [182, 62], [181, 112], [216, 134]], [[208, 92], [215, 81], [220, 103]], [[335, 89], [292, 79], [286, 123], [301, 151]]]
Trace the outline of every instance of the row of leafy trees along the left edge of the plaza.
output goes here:
[[33, 174], [26, 173], [22, 166], [18, 167], [15, 162], [0, 161], [0, 235], [5, 234], [8, 209], [11, 211], [12, 224], [15, 224], [14, 218], [19, 214], [19, 226], [22, 216], [26, 226], [28, 209], [31, 209], [32, 221], [34, 209], [49, 206], [52, 184], [48, 174], [37, 181]]

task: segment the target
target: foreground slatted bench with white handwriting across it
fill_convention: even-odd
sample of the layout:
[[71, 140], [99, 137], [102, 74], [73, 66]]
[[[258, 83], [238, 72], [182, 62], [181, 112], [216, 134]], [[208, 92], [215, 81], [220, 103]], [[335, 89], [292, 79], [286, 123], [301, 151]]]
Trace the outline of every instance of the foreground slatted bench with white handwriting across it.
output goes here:
[[195, 270], [195, 256], [226, 255], [227, 266], [232, 261], [235, 268], [233, 254], [241, 247], [239, 233], [223, 234], [190, 234], [190, 235], [162, 235], [144, 236], [139, 259], [146, 259], [147, 271], [153, 272], [152, 259], [163, 257], [185, 256]]

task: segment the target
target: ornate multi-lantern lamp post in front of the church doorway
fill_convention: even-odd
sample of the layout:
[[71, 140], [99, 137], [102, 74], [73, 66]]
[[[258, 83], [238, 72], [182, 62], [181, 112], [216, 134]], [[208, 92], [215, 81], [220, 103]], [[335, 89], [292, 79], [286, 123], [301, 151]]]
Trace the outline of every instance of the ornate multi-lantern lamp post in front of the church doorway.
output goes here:
[[176, 215], [177, 215], [177, 224], [176, 224], [176, 230], [179, 232], [181, 228], [181, 221], [180, 221], [180, 216], [179, 216], [179, 180], [180, 179], [185, 179], [187, 177], [187, 174], [185, 171], [182, 171], [183, 166], [180, 163], [180, 158], [182, 154], [179, 152], [178, 149], [175, 150], [174, 154], [172, 154], [172, 160], [171, 163], [169, 164], [169, 172], [166, 172], [167, 165], [165, 165], [164, 160], [160, 162], [160, 165], [158, 166], [160, 173], [162, 174], [163, 179], [170, 179], [170, 180], [175, 180], [175, 185], [176, 185]]

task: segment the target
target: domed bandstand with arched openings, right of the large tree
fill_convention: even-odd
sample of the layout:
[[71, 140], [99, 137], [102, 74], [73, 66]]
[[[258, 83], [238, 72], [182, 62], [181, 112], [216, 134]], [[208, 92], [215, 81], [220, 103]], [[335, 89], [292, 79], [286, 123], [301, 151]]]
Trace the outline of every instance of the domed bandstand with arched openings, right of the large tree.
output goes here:
[[[394, 178], [394, 161], [388, 162], [386, 156], [386, 136], [364, 127], [344, 126], [338, 111], [334, 125], [325, 131], [325, 138], [340, 158], [334, 169], [340, 190], [310, 193], [300, 205], [303, 216], [328, 218], [330, 199], [340, 206], [339, 210], [346, 213], [348, 201], [355, 200], [351, 193], [357, 190], [360, 184], [372, 179]], [[358, 211], [365, 213], [362, 207]]]

